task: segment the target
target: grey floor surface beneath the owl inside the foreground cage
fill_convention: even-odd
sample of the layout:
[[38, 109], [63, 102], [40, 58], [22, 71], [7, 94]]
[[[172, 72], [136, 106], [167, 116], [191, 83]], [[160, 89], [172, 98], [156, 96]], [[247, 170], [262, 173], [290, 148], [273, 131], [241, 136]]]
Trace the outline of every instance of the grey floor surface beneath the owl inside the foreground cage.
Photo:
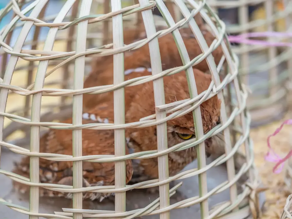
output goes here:
[[[13, 168], [13, 161], [17, 161], [20, 159], [20, 155], [17, 155], [13, 152], [3, 150], [1, 153], [1, 169], [10, 171]], [[196, 168], [196, 162], [193, 162], [189, 166], [185, 168], [192, 169]], [[227, 171], [224, 166], [218, 166], [215, 168], [211, 168], [210, 171], [207, 171], [208, 177], [208, 191], [212, 190], [214, 187], [219, 185], [220, 183], [227, 180]], [[199, 187], [198, 187], [198, 178], [191, 177], [182, 180], [183, 185], [179, 188], [179, 191], [187, 196], [188, 198], [194, 197], [198, 195]], [[4, 198], [6, 201], [12, 201], [14, 204], [21, 205], [23, 207], [29, 207], [28, 197], [15, 193], [12, 190], [11, 179], [6, 177], [5, 175], [0, 175], [0, 197]], [[179, 181], [178, 181], [179, 183]], [[127, 193], [127, 211], [135, 209], [136, 204], [138, 204], [139, 208], [145, 207], [150, 204], [151, 201], [154, 201], [158, 197], [157, 195], [145, 194], [145, 192], [141, 190], [132, 190]], [[209, 198], [209, 205], [213, 206], [222, 201], [229, 200], [229, 191], [225, 190], [220, 194], [214, 195]], [[175, 200], [171, 199], [171, 203], [175, 203]], [[106, 201], [105, 203], [100, 204], [99, 202], [91, 202], [84, 203], [86, 206], [89, 206], [90, 209], [102, 209], [102, 210], [114, 210], [114, 204], [110, 201]], [[41, 213], [53, 213], [54, 211], [62, 211], [61, 208], [71, 208], [71, 202], [68, 199], [41, 199], [40, 200], [40, 212]], [[85, 208], [85, 207], [84, 207]], [[193, 205], [189, 208], [183, 209], [175, 209], [171, 211], [171, 218], [200, 218], [200, 206]], [[18, 219], [26, 219], [27, 215], [22, 213], [18, 213], [4, 205], [0, 204], [0, 219], [4, 218], [18, 218]], [[154, 216], [143, 216], [145, 219], [156, 219], [159, 218], [158, 215]]]

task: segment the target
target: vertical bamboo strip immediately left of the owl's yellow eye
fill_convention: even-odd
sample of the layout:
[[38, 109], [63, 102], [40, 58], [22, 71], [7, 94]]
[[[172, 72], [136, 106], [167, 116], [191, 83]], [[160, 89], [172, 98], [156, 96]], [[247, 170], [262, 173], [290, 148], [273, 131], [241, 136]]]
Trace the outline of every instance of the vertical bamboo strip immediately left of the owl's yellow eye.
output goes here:
[[[139, 0], [141, 6], [149, 4], [148, 0]], [[145, 31], [147, 37], [153, 36], [156, 33], [156, 28], [154, 24], [154, 18], [151, 10], [142, 11], [142, 18], [145, 25]], [[155, 38], [149, 42], [149, 52], [152, 75], [162, 72], [161, 58], [158, 39]], [[165, 104], [164, 97], [164, 83], [163, 78], [153, 81], [154, 90], [154, 103], [155, 106]], [[160, 120], [166, 117], [165, 112], [156, 111], [156, 119]], [[166, 132], [166, 122], [161, 123], [157, 127], [157, 150], [164, 151], [168, 148], [167, 146], [167, 132]], [[162, 155], [158, 158], [158, 178], [159, 181], [166, 180], [169, 178], [168, 173], [168, 155]], [[169, 183], [159, 186], [159, 198], [160, 198], [160, 208], [165, 208], [169, 206]], [[160, 214], [160, 219], [170, 219], [170, 212], [165, 212]]]

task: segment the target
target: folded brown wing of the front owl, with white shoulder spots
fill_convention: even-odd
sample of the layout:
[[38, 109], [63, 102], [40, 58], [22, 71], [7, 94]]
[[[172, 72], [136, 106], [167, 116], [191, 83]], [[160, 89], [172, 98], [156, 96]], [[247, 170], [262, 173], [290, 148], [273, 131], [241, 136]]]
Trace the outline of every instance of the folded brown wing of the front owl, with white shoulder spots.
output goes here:
[[[113, 108], [113, 107], [111, 107]], [[106, 115], [112, 112], [108, 110], [105, 104], [97, 106], [91, 110], [91, 113], [85, 113], [83, 124], [86, 123], [112, 123], [113, 116]], [[72, 124], [72, 119], [64, 121]], [[72, 155], [72, 131], [71, 130], [51, 130], [40, 139], [40, 152]], [[82, 155], [101, 155], [114, 154], [114, 130], [82, 130]], [[128, 148], [126, 147], [126, 154]], [[40, 182], [54, 183], [63, 185], [73, 185], [72, 161], [51, 161], [40, 158]], [[14, 173], [29, 178], [29, 157], [24, 157], [19, 163], [15, 164]], [[126, 183], [133, 174], [132, 161], [126, 160]], [[112, 163], [94, 163], [83, 161], [83, 187], [96, 185], [114, 185], [114, 162]], [[29, 186], [13, 182], [14, 187], [21, 193], [29, 191]], [[99, 199], [100, 201], [110, 194], [101, 194], [94, 192], [84, 192], [84, 198]], [[64, 194], [40, 187], [40, 196], [46, 197], [67, 197], [72, 194]]]

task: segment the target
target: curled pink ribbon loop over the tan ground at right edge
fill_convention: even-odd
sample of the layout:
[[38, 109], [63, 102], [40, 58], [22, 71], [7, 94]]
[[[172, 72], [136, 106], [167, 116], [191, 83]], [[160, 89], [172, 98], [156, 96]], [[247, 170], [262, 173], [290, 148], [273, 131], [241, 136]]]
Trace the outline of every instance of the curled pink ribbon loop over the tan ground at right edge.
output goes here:
[[270, 138], [272, 136], [275, 136], [277, 135], [281, 129], [283, 128], [284, 125], [292, 125], [292, 119], [288, 119], [286, 121], [284, 121], [281, 126], [279, 128], [276, 129], [276, 131], [274, 131], [273, 134], [269, 135], [268, 136], [268, 139], [267, 139], [267, 143], [268, 143], [268, 147], [269, 147], [269, 151], [267, 152], [267, 155], [265, 156], [265, 160], [266, 161], [269, 161], [269, 162], [272, 162], [272, 163], [276, 163], [276, 166], [274, 166], [273, 168], [273, 173], [280, 173], [282, 170], [283, 170], [283, 167], [284, 167], [284, 162], [286, 160], [289, 159], [289, 157], [292, 156], [292, 150], [289, 151], [289, 153], [284, 157], [284, 158], [281, 158], [271, 147], [270, 145]]

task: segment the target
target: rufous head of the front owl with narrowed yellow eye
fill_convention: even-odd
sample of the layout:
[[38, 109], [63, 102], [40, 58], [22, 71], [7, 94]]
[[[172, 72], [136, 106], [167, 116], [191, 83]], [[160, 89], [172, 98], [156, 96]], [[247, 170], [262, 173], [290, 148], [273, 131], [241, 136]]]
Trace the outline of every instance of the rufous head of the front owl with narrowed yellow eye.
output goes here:
[[[207, 90], [211, 83], [211, 76], [194, 69], [194, 77], [197, 85], [198, 94]], [[185, 72], [180, 72], [171, 76], [165, 76], [164, 79], [165, 102], [172, 103], [179, 100], [190, 98], [189, 88]], [[203, 102], [200, 106], [201, 118], [204, 133], [210, 131], [220, 123], [220, 105], [221, 101], [217, 95]], [[126, 112], [127, 122], [139, 121], [140, 118], [155, 114], [153, 83], [149, 82], [137, 91], [131, 105]], [[157, 150], [157, 130], [156, 126], [146, 128], [133, 128], [127, 130], [127, 135], [135, 144], [139, 145], [141, 150]], [[167, 121], [167, 139], [168, 147], [172, 147], [180, 142], [184, 142], [195, 137], [195, 127], [192, 112], [181, 117]], [[224, 142], [221, 142], [222, 144]], [[218, 140], [213, 137], [205, 141], [206, 154], [210, 155], [216, 151]], [[223, 144], [224, 147], [224, 144]], [[169, 157], [178, 161], [189, 163], [197, 157], [195, 147], [180, 152], [173, 152]]]

